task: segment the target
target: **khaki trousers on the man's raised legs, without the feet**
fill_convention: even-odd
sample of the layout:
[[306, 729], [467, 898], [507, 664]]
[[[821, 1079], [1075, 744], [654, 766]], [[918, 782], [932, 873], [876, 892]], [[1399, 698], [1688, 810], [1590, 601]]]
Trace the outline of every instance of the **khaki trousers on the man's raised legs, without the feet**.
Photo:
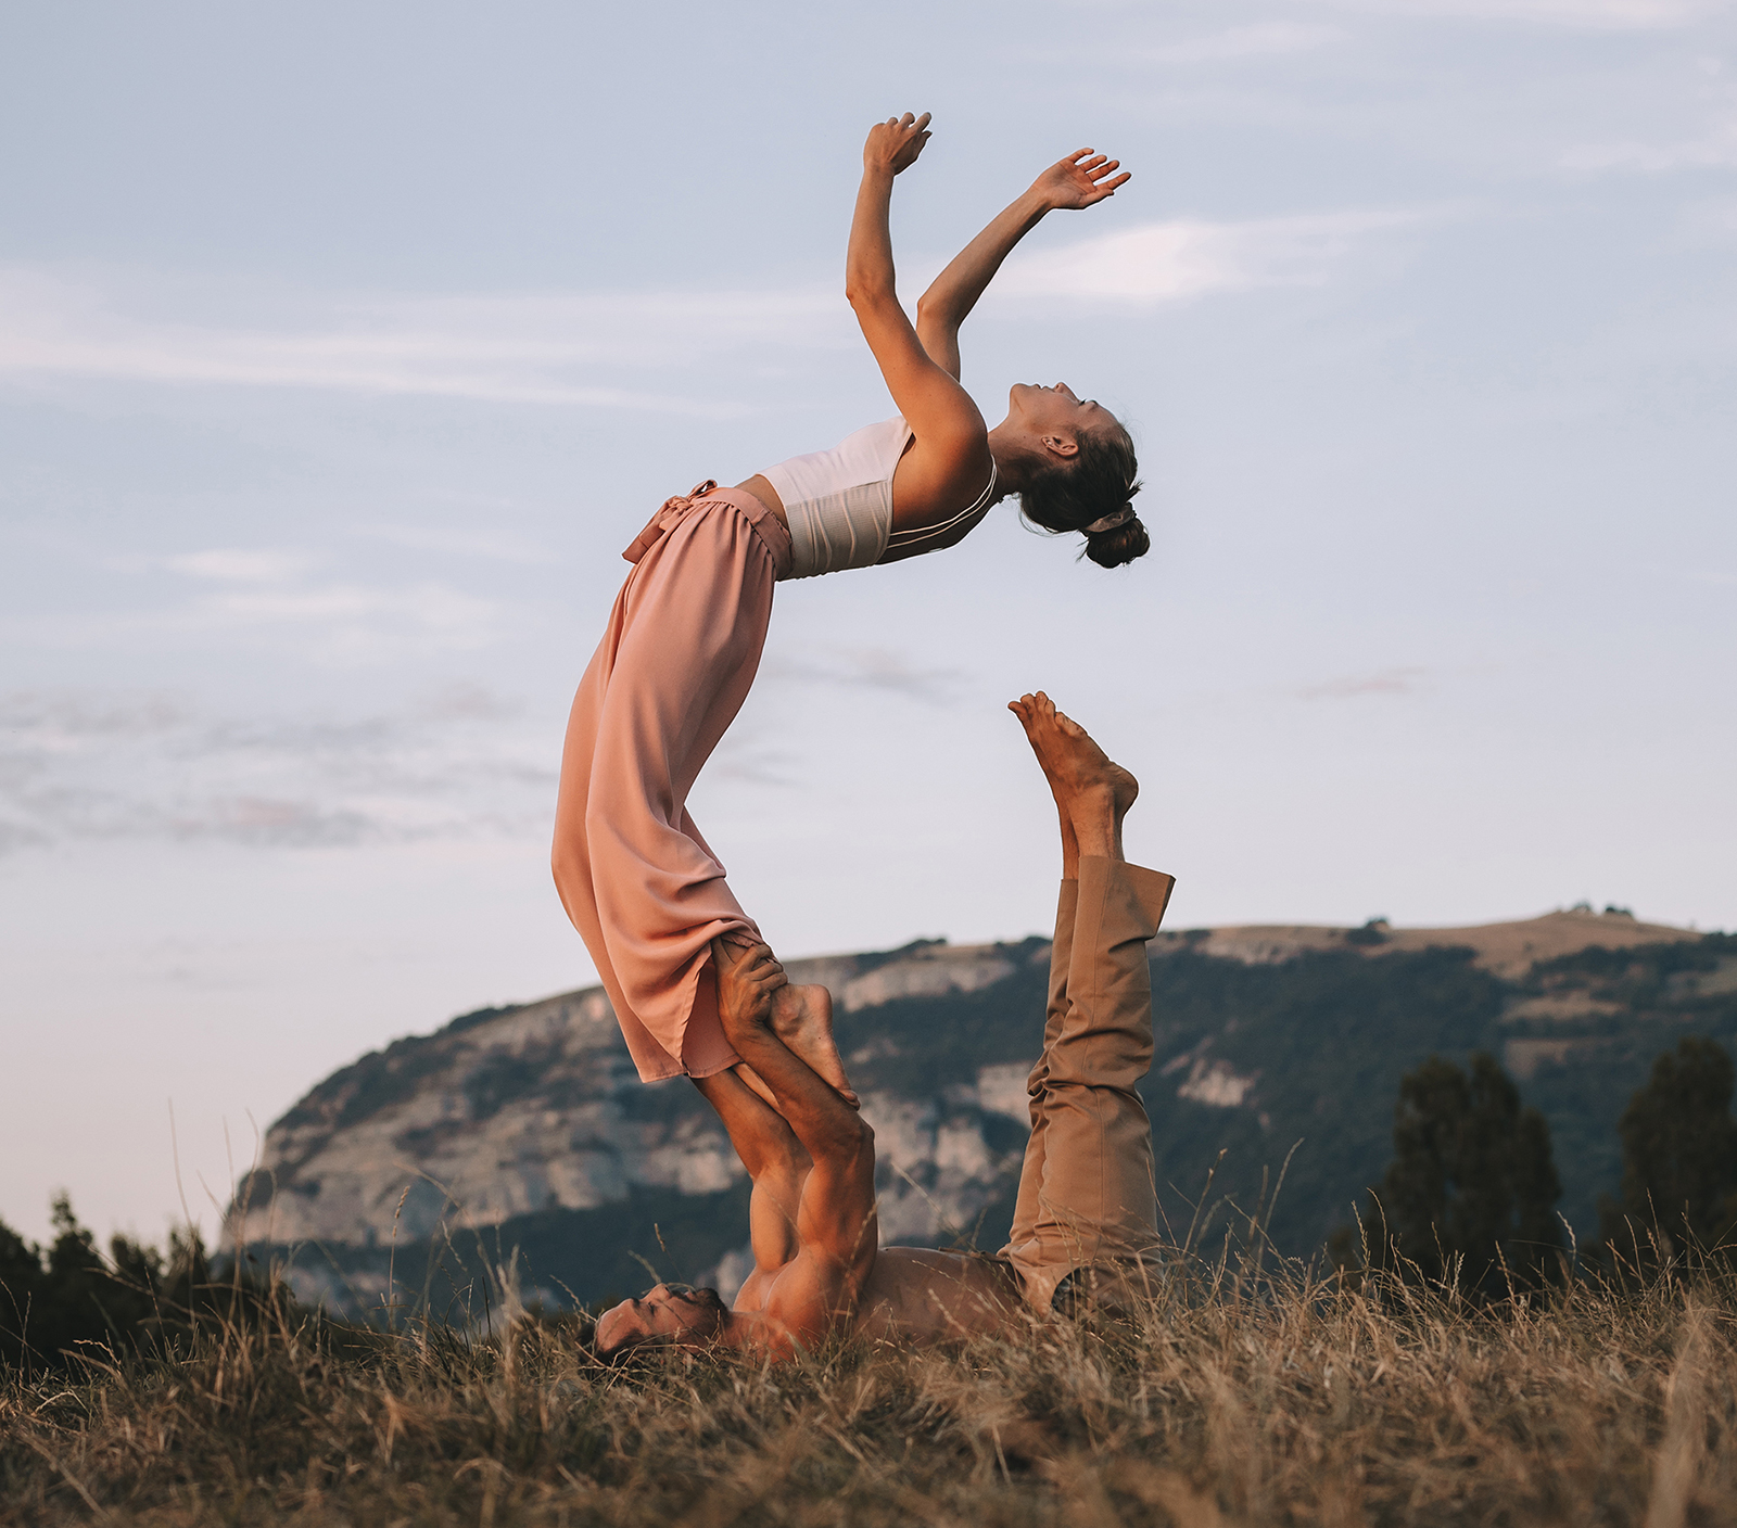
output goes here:
[[1002, 1254], [1042, 1309], [1073, 1269], [1138, 1261], [1159, 1240], [1152, 1122], [1136, 1085], [1152, 1068], [1146, 939], [1172, 886], [1138, 865], [1080, 860], [1065, 1005], [1034, 1099], [1037, 1214]]

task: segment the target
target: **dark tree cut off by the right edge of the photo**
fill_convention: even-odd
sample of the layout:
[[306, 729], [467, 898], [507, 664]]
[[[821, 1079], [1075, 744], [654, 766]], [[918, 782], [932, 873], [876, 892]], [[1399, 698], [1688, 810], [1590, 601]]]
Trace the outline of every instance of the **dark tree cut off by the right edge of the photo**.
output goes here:
[[1619, 1252], [1643, 1254], [1657, 1240], [1713, 1250], [1737, 1229], [1737, 1068], [1716, 1040], [1687, 1035], [1652, 1063], [1617, 1132], [1622, 1196], [1600, 1205], [1600, 1235]]

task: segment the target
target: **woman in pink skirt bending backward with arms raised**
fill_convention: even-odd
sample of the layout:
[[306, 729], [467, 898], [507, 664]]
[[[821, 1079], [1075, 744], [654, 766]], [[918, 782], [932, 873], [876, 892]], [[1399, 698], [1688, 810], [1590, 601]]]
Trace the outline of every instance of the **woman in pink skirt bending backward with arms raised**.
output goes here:
[[[773, 583], [950, 547], [1009, 493], [1037, 524], [1082, 531], [1105, 568], [1148, 549], [1129, 502], [1133, 441], [1110, 410], [1021, 384], [988, 429], [959, 385], [959, 325], [1007, 252], [1044, 214], [1103, 201], [1129, 175], [1091, 149], [1047, 168], [935, 280], [912, 325], [893, 290], [888, 210], [928, 128], [928, 113], [905, 113], [868, 132], [846, 259], [844, 295], [900, 417], [669, 500], [624, 554], [634, 568], [573, 700], [554, 879], [646, 1082], [740, 1063], [717, 1023], [710, 941], [761, 934], [686, 800], [754, 682]], [[773, 1023], [855, 1101], [825, 988], [782, 988]]]

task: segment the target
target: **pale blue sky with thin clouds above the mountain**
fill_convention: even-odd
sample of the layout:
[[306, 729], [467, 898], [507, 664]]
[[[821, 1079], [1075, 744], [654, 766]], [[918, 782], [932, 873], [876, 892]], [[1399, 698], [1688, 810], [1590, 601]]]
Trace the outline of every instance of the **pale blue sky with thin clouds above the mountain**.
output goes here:
[[1131, 425], [1153, 550], [1013, 504], [780, 587], [691, 809], [785, 955], [1044, 931], [1009, 696], [1171, 922], [1737, 925], [1737, 9], [884, 0], [0, 12], [0, 1219], [212, 1229], [368, 1049], [585, 985], [547, 870], [620, 549], [893, 408], [902, 293]]

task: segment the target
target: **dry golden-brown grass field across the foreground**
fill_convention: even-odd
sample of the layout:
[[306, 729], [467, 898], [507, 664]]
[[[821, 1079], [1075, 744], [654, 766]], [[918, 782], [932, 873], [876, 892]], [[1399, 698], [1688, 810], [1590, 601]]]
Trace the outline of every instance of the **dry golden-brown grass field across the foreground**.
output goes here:
[[1737, 1521], [1737, 1281], [1499, 1314], [1285, 1274], [1145, 1328], [766, 1370], [219, 1323], [0, 1396], [5, 1523], [1091, 1525]]

